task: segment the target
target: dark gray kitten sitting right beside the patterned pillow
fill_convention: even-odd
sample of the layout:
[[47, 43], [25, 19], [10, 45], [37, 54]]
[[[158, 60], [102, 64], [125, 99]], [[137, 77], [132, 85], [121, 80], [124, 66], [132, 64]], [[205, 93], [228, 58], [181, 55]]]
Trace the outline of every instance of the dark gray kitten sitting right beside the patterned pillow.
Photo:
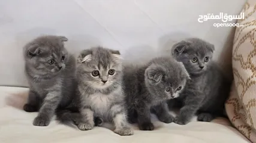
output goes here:
[[168, 101], [170, 108], [180, 102], [180, 113], [174, 122], [185, 125], [195, 114], [198, 121], [204, 122], [222, 116], [231, 82], [212, 61], [214, 51], [214, 45], [198, 38], [173, 45], [171, 55], [184, 64], [191, 77], [180, 97]]

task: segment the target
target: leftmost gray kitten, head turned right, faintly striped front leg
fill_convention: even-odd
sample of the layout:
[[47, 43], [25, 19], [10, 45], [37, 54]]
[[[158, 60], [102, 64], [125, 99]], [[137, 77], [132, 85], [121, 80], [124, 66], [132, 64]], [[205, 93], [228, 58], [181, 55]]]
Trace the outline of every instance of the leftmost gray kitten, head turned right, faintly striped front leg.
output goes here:
[[23, 109], [39, 111], [35, 126], [48, 126], [56, 109], [66, 107], [76, 94], [76, 60], [65, 41], [64, 36], [40, 36], [24, 47], [29, 96]]

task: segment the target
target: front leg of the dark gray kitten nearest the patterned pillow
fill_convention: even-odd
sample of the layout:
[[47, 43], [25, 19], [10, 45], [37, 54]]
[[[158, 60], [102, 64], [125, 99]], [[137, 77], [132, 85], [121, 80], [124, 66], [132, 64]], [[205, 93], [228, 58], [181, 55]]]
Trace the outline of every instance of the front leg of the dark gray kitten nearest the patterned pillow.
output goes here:
[[190, 122], [197, 110], [200, 108], [203, 98], [189, 97], [185, 100], [185, 105], [180, 108], [179, 114], [174, 119], [174, 122], [179, 125], [186, 125]]

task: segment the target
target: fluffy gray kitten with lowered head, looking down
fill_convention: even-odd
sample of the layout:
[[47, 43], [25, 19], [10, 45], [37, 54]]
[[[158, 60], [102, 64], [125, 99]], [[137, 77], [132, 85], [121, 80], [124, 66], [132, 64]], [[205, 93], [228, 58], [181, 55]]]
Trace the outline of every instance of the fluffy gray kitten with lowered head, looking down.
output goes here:
[[144, 66], [124, 66], [124, 88], [131, 123], [153, 130], [150, 110], [164, 123], [173, 122], [165, 101], [179, 97], [189, 75], [181, 62], [170, 57], [153, 58]]

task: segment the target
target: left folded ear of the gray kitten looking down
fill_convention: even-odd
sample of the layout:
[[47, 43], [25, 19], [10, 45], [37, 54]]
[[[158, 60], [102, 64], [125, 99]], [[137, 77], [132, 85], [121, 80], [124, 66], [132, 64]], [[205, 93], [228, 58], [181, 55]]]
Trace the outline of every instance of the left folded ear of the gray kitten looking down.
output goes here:
[[149, 66], [145, 70], [145, 76], [148, 77], [152, 83], [157, 84], [157, 83], [161, 82], [162, 77], [164, 76], [164, 72], [162, 71], [162, 69], [160, 67]]

